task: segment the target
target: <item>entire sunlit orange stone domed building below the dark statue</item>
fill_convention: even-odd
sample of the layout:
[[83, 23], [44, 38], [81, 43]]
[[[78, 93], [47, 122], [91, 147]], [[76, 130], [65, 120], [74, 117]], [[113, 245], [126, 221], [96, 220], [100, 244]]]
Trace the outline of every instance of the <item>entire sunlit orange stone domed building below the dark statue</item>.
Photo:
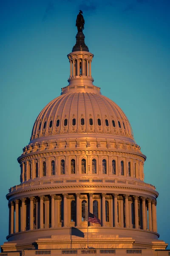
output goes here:
[[83, 36], [68, 54], [69, 85], [40, 112], [18, 158], [1, 255], [170, 255], [158, 240], [158, 192], [144, 183], [146, 157], [125, 113], [93, 85]]

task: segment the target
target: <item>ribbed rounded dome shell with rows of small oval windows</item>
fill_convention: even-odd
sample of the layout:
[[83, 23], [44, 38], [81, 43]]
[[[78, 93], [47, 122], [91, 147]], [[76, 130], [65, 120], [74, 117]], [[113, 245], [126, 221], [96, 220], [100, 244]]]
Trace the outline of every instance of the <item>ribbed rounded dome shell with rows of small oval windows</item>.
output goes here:
[[[94, 85], [69, 85], [61, 96], [49, 102], [37, 117], [32, 141], [60, 137], [61, 134], [110, 135], [133, 140], [133, 132], [125, 113], [116, 103], [101, 95]], [[31, 142], [32, 142], [31, 141]]]

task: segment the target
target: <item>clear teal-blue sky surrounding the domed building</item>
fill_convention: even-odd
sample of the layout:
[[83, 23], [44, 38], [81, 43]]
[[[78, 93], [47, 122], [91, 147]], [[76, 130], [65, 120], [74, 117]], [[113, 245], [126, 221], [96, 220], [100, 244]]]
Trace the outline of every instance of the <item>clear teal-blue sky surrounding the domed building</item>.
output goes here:
[[19, 183], [17, 157], [42, 108], [68, 85], [67, 54], [79, 9], [92, 76], [127, 115], [156, 186], [158, 232], [170, 244], [170, 1], [0, 1], [0, 244], [8, 234], [6, 194]]

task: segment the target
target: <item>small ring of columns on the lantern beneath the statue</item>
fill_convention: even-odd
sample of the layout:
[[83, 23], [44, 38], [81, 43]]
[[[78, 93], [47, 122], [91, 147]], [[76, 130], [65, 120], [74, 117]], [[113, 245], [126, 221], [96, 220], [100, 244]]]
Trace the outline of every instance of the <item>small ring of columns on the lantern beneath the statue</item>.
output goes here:
[[69, 58], [70, 77], [90, 76], [91, 77], [91, 59], [90, 58]]

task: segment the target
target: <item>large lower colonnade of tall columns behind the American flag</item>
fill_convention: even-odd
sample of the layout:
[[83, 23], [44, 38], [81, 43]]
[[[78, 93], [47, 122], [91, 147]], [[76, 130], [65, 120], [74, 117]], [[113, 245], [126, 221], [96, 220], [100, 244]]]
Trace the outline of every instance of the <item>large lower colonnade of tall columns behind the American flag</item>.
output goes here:
[[[10, 201], [9, 234], [43, 228], [84, 227], [87, 219], [82, 219], [82, 202], [87, 202], [87, 210], [94, 213], [95, 200], [98, 202], [97, 217], [101, 219], [102, 227], [125, 227], [157, 232], [155, 199], [137, 195], [65, 193]], [[75, 209], [71, 209], [72, 201], [75, 202]], [[74, 218], [71, 215], [73, 210], [75, 219], [71, 220]]]

